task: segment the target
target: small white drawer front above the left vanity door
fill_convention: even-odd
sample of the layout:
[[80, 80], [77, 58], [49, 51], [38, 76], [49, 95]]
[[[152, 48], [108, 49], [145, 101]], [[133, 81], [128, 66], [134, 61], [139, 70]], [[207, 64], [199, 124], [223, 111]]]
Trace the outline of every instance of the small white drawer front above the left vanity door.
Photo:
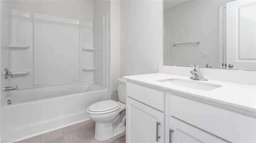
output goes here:
[[126, 83], [126, 96], [164, 112], [164, 92], [131, 82]]

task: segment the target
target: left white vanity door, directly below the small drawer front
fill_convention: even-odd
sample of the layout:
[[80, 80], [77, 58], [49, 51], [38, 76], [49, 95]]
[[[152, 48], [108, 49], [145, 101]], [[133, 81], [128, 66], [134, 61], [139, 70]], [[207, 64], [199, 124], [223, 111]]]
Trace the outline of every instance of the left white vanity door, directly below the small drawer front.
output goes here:
[[126, 97], [126, 143], [164, 143], [164, 113]]

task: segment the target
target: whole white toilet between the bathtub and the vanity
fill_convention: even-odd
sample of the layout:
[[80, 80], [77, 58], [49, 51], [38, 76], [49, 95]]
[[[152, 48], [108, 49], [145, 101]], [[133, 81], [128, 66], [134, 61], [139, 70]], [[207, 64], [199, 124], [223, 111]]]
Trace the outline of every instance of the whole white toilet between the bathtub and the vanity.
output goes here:
[[95, 121], [94, 139], [106, 141], [125, 131], [126, 79], [117, 79], [120, 101], [104, 100], [87, 108], [89, 118]]

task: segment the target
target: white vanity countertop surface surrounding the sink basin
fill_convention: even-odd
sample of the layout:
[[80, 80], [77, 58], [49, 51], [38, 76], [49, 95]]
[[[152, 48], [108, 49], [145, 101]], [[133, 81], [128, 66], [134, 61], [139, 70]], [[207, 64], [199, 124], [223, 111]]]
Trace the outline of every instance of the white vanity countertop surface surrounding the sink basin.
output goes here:
[[[218, 80], [208, 80], [201, 81], [196, 80], [197, 82], [207, 82], [211, 84], [220, 84], [222, 85], [219, 88], [210, 91], [195, 90], [192, 88], [186, 88], [182, 86], [176, 86], [166, 83], [158, 82], [156, 80], [163, 80], [168, 78], [180, 78], [185, 80], [193, 80], [187, 76], [178, 76], [173, 74], [163, 74], [163, 73], [152, 73], [152, 74], [141, 74], [134, 76], [124, 76], [128, 80], [135, 82], [140, 82], [143, 84], [148, 84], [151, 86], [156, 86], [158, 88], [163, 88], [175, 92], [180, 92], [187, 94], [189, 96], [202, 98], [210, 102], [216, 102], [224, 104], [230, 107], [235, 107], [234, 111], [237, 109], [249, 111], [250, 116], [256, 117], [256, 86], [248, 84], [238, 84], [232, 82], [223, 82]], [[241, 112], [241, 111], [237, 111]]]

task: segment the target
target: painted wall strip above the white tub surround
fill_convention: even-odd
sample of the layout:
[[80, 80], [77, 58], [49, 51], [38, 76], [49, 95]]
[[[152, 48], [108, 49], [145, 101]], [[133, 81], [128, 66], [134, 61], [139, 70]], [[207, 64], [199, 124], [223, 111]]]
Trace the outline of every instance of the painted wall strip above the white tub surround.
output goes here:
[[93, 22], [93, 0], [8, 0], [11, 8]]

